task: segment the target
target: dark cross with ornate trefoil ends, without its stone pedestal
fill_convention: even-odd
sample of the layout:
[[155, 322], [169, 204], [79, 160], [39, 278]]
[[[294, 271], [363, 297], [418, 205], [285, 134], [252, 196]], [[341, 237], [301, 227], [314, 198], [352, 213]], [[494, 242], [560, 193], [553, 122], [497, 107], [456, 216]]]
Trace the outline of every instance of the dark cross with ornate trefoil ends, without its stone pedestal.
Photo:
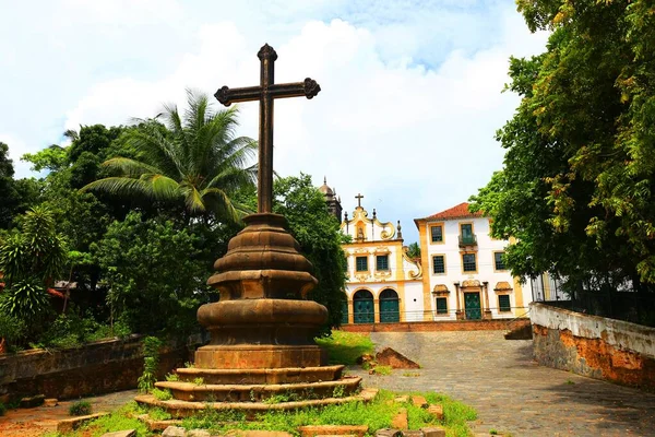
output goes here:
[[219, 88], [214, 96], [225, 106], [238, 102], [260, 102], [259, 131], [259, 173], [258, 173], [258, 212], [272, 212], [273, 203], [273, 101], [275, 98], [301, 97], [312, 98], [321, 86], [317, 81], [307, 78], [303, 82], [275, 83], [275, 60], [277, 54], [273, 47], [264, 44], [257, 54], [261, 61], [259, 86], [230, 90]]

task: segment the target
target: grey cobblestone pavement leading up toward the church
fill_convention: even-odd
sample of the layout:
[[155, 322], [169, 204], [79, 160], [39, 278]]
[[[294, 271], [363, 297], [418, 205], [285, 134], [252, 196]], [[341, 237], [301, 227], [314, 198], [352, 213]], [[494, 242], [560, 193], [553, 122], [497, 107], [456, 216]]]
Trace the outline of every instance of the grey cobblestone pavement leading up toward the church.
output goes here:
[[434, 390], [469, 404], [478, 412], [475, 433], [655, 436], [655, 394], [539, 366], [532, 341], [504, 340], [502, 331], [388, 332], [371, 339], [377, 349], [393, 347], [422, 368], [350, 374], [361, 375], [366, 387]]

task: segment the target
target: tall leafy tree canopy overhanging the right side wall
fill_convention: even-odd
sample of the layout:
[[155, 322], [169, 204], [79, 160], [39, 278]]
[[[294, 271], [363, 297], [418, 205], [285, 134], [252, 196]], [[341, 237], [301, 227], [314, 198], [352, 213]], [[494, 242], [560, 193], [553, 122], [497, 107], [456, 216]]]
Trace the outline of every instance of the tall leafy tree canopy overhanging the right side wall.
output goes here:
[[570, 288], [655, 286], [655, 9], [648, 1], [520, 0], [547, 51], [511, 59], [521, 95], [497, 133], [504, 169], [472, 198], [516, 275]]

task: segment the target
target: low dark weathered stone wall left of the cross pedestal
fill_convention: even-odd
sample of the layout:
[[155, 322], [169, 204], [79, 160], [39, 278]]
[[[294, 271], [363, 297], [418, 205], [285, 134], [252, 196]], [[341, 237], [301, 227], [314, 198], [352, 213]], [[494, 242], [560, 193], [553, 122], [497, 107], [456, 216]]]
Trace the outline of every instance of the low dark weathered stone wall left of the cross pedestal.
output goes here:
[[[159, 377], [188, 359], [186, 346], [166, 346]], [[142, 336], [104, 340], [80, 349], [32, 350], [0, 355], [0, 399], [45, 394], [71, 399], [128, 390], [143, 373]]]

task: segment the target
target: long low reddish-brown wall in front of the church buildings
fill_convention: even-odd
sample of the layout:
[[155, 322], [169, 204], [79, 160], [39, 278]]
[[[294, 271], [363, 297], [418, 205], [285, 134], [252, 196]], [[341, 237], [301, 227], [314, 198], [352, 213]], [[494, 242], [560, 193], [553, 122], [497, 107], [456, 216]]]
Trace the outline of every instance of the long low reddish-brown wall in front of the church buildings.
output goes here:
[[507, 331], [529, 326], [529, 319], [413, 321], [398, 323], [342, 324], [347, 332]]

